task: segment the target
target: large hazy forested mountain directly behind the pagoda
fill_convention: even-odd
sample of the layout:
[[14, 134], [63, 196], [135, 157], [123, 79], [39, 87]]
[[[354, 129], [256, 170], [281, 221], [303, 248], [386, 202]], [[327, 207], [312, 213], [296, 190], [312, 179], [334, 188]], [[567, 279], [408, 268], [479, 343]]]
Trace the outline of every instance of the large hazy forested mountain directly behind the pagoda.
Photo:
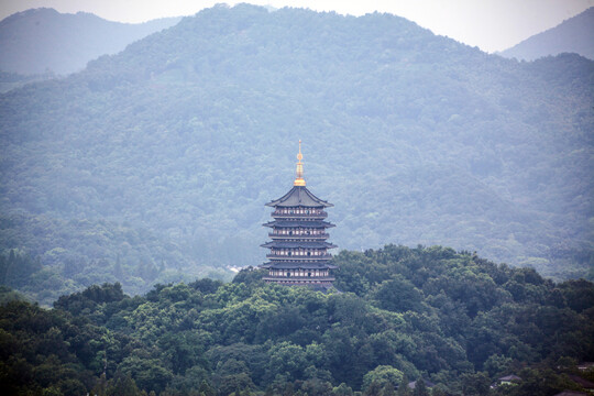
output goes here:
[[257, 265], [301, 139], [342, 249], [437, 243], [585, 276], [593, 73], [388, 14], [215, 7], [0, 97], [0, 241], [54, 290]]

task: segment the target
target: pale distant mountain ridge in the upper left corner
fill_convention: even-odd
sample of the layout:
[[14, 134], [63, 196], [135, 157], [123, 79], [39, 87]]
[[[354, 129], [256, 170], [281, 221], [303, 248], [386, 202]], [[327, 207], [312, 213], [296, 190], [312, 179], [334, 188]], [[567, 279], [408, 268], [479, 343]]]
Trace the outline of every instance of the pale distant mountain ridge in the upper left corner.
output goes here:
[[81, 70], [87, 62], [116, 54], [179, 20], [164, 18], [130, 24], [84, 12], [63, 14], [46, 8], [19, 12], [0, 22], [0, 70], [22, 75]]

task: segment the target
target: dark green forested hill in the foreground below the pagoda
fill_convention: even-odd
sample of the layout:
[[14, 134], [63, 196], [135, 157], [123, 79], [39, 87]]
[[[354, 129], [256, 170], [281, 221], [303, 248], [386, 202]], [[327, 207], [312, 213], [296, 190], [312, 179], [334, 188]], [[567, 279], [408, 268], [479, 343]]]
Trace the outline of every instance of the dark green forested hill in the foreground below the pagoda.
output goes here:
[[[233, 282], [103, 284], [53, 309], [3, 289], [0, 386], [11, 395], [534, 395], [582, 389], [594, 285], [468, 252], [343, 251], [328, 294]], [[499, 385], [506, 375], [521, 378]], [[415, 389], [403, 386], [416, 381]]]

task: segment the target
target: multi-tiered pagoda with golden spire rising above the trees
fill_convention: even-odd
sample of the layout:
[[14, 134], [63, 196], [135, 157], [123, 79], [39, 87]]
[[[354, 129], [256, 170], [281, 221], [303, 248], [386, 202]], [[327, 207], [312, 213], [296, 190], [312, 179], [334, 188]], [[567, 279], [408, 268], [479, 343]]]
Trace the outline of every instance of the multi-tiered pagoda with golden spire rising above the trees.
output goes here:
[[328, 216], [324, 209], [333, 205], [306, 188], [302, 158], [299, 141], [293, 188], [266, 204], [274, 208], [271, 215], [274, 221], [263, 224], [272, 229], [268, 233], [272, 241], [262, 245], [271, 252], [266, 255], [270, 262], [260, 267], [268, 268], [268, 276], [264, 277], [267, 283], [329, 288], [334, 280], [331, 270], [337, 267], [329, 263], [332, 255], [328, 250], [337, 246], [326, 242], [329, 237], [326, 229], [334, 224], [323, 219]]

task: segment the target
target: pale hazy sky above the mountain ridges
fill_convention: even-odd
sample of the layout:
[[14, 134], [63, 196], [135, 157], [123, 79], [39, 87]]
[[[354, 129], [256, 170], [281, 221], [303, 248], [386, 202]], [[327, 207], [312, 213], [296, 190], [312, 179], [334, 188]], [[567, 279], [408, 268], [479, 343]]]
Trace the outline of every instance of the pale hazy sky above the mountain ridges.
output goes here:
[[111, 21], [191, 15], [218, 2], [302, 7], [352, 15], [389, 12], [486, 52], [508, 48], [594, 6], [594, 0], [0, 0], [0, 19], [31, 8], [85, 11]]

